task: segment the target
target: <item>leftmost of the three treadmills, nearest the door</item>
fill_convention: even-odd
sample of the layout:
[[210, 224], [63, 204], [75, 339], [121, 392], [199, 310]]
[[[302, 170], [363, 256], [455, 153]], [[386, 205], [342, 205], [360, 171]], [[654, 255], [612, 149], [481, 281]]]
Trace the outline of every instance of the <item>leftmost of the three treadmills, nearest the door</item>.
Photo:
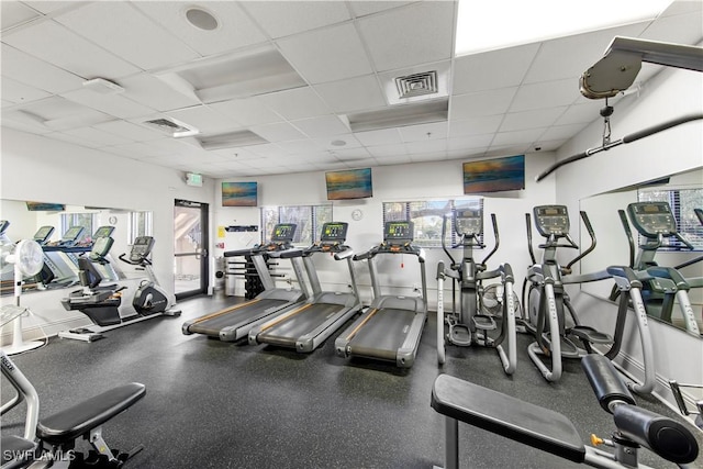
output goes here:
[[[300, 254], [302, 249], [294, 249], [292, 246], [295, 226], [292, 223], [277, 224], [274, 226], [270, 243], [257, 245], [250, 249], [224, 253], [224, 257], [250, 257], [264, 284], [264, 291], [253, 300], [185, 322], [182, 333], [185, 335], [204, 334], [224, 342], [236, 342], [245, 338], [257, 321], [305, 300], [308, 294], [304, 288], [302, 255]], [[278, 257], [283, 253], [288, 254], [281, 258], [291, 260], [293, 272], [301, 287], [300, 290], [276, 288], [268, 271], [266, 257]]]

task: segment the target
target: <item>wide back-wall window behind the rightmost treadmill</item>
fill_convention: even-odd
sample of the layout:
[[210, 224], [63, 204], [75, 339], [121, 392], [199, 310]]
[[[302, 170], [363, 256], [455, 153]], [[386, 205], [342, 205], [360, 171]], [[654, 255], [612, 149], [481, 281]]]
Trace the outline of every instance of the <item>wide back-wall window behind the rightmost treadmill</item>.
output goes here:
[[[426, 200], [414, 202], [383, 202], [383, 225], [386, 222], [408, 220], [415, 225], [415, 241], [422, 247], [442, 247], [442, 224], [444, 215], [455, 209], [483, 210], [482, 198]], [[483, 241], [483, 235], [479, 236]], [[456, 233], [447, 225], [447, 245], [459, 242]]]

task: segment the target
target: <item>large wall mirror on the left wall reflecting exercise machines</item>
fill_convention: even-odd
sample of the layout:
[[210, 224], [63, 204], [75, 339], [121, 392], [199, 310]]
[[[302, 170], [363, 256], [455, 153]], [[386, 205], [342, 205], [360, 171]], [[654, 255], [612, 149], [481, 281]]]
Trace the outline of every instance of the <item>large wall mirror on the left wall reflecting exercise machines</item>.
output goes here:
[[[110, 265], [99, 268], [105, 281], [116, 281], [144, 277], [134, 266], [119, 260], [120, 254], [129, 253], [136, 236], [152, 234], [152, 213], [119, 208], [97, 208], [89, 205], [69, 205], [57, 202], [37, 202], [20, 200], [0, 200], [0, 220], [7, 221], [1, 244], [16, 243], [21, 239], [45, 237], [47, 245], [56, 245], [62, 238], [75, 238], [83, 252], [89, 250], [92, 236], [101, 226], [112, 227], [110, 236], [114, 244], [108, 257]], [[48, 228], [51, 227], [51, 228]], [[52, 230], [53, 228], [53, 230]], [[82, 230], [81, 230], [82, 228]], [[79, 234], [78, 234], [79, 233]], [[74, 236], [78, 234], [78, 236]], [[81, 252], [70, 249], [45, 249], [47, 270], [34, 279], [25, 279], [27, 292], [48, 289], [76, 288], [77, 257]], [[51, 265], [51, 267], [48, 267]], [[3, 260], [0, 266], [2, 295], [12, 295], [13, 266]], [[53, 277], [52, 277], [53, 275]]]

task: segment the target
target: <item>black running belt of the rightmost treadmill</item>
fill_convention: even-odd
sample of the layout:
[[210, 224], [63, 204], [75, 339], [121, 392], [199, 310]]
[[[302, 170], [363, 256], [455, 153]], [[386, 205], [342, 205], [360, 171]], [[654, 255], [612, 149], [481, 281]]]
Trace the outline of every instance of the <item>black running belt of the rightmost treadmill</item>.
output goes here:
[[395, 361], [415, 314], [410, 310], [378, 310], [349, 342], [350, 354]]

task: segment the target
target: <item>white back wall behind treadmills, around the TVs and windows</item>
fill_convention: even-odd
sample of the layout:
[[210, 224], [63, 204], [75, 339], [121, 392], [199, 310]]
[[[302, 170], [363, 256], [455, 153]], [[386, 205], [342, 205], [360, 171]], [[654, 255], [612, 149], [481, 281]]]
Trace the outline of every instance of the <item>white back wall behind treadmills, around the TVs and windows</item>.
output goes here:
[[[506, 155], [507, 156], [507, 155]], [[501, 246], [498, 253], [489, 261], [489, 268], [499, 264], [510, 263], [516, 276], [516, 284], [522, 284], [524, 272], [529, 264], [525, 235], [525, 212], [539, 203], [554, 201], [554, 182], [534, 182], [537, 174], [542, 172], [554, 163], [553, 153], [532, 154], [525, 158], [525, 190], [504, 193], [483, 194], [484, 199], [484, 231], [486, 243], [489, 249], [492, 247], [493, 235], [490, 225], [490, 213], [495, 213], [501, 236]], [[347, 244], [356, 253], [361, 253], [382, 241], [382, 202], [414, 201], [445, 198], [461, 198], [462, 160], [422, 163], [402, 166], [380, 166], [372, 168], [373, 197], [349, 201], [328, 202], [326, 200], [324, 172], [304, 172], [284, 176], [266, 176], [257, 178], [234, 178], [225, 181], [258, 182], [259, 205], [295, 205], [333, 203], [333, 216], [336, 221], [349, 223]], [[221, 206], [221, 185], [215, 189], [215, 228], [226, 225], [258, 225], [259, 210], [256, 208], [224, 208]], [[364, 217], [360, 221], [352, 220], [352, 212], [360, 209]], [[245, 236], [246, 237], [246, 236]], [[248, 238], [248, 237], [247, 237]], [[254, 236], [256, 242], [258, 237]], [[225, 249], [243, 246], [236, 245], [235, 239], [241, 236], [230, 236], [233, 243], [226, 244]], [[216, 239], [217, 242], [220, 239]], [[256, 243], [255, 242], [255, 243]], [[253, 243], [252, 243], [253, 244]], [[216, 249], [215, 255], [221, 255], [223, 249]], [[488, 254], [478, 253], [482, 258]], [[426, 249], [426, 271], [428, 284], [429, 308], [436, 305], [436, 268], [439, 260], [447, 263], [442, 249]], [[460, 258], [460, 253], [457, 253]], [[382, 256], [377, 258], [379, 280], [382, 288], [399, 294], [411, 294], [413, 284], [420, 283], [420, 272], [416, 260], [410, 256]], [[323, 288], [345, 290], [348, 283], [348, 273], [343, 265], [334, 263], [317, 264]], [[290, 269], [283, 266], [282, 271], [290, 278]], [[358, 275], [360, 293], [365, 301], [370, 298], [370, 279], [367, 266], [362, 263], [355, 265]]]

